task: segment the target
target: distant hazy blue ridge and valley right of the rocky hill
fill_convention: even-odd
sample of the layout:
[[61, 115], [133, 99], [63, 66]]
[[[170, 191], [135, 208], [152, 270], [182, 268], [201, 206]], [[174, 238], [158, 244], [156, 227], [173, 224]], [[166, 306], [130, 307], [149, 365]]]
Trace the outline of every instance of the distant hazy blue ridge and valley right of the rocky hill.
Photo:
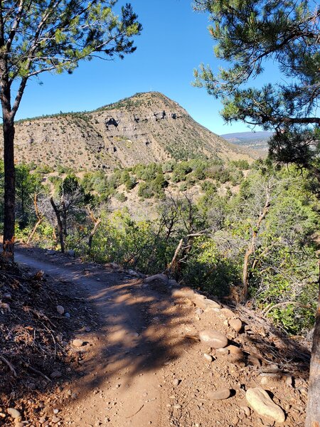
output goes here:
[[236, 132], [230, 134], [220, 135], [228, 142], [239, 145], [247, 149], [254, 149], [257, 152], [264, 152], [267, 154], [268, 139], [272, 137], [272, 132]]

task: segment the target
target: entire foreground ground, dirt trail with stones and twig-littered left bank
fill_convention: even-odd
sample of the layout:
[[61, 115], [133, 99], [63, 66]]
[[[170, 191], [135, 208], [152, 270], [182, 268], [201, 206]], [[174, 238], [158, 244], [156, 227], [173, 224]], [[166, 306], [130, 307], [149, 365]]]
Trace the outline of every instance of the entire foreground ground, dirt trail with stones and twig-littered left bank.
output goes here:
[[159, 274], [20, 247], [0, 270], [3, 426], [304, 425], [309, 350]]

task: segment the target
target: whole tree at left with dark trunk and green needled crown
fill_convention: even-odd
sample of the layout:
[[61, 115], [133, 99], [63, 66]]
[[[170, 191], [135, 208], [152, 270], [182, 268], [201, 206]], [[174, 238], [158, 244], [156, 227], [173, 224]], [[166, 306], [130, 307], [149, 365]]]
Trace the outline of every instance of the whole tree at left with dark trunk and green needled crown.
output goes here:
[[[0, 5], [0, 99], [4, 132], [4, 252], [14, 259], [14, 118], [26, 84], [44, 72], [72, 73], [80, 60], [123, 58], [142, 30], [117, 0], [8, 0]], [[14, 90], [13, 90], [14, 88]], [[14, 93], [14, 96], [13, 96]]]

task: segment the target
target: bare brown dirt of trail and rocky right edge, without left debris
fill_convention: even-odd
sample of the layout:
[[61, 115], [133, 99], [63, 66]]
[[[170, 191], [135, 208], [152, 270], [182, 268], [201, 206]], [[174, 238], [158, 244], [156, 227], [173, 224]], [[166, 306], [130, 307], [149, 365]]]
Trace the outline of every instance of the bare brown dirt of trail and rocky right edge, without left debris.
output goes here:
[[[280, 425], [249, 408], [245, 391], [252, 387], [262, 387], [281, 406], [282, 426], [304, 425], [308, 352], [250, 311], [220, 310], [217, 302], [170, 282], [144, 281], [52, 251], [18, 248], [16, 260], [46, 272], [73, 334], [58, 337], [70, 363], [58, 367], [55, 379], [57, 368], [47, 368], [53, 384], [33, 391], [24, 407], [13, 397], [10, 406], [21, 418], [6, 416], [4, 426]], [[237, 332], [232, 325], [239, 317]], [[208, 329], [228, 337], [228, 347], [201, 342], [199, 333]], [[213, 392], [221, 389], [230, 396], [217, 400]], [[36, 407], [32, 416], [28, 405]]]

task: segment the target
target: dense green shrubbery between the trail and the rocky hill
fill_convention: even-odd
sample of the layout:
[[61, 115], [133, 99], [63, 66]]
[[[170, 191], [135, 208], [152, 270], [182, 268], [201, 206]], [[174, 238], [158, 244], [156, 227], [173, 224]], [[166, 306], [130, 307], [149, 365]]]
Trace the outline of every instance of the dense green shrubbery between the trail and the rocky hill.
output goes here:
[[[305, 172], [268, 162], [255, 162], [244, 179], [242, 168], [248, 167], [242, 161], [225, 167], [220, 161], [192, 159], [162, 166], [139, 164], [112, 174], [90, 172], [82, 181], [70, 173], [49, 176], [48, 181], [65, 221], [67, 248], [148, 274], [169, 268], [183, 283], [214, 295], [231, 294], [236, 300], [246, 282], [252, 305], [298, 333], [311, 327], [316, 305], [316, 183]], [[40, 194], [44, 220], [33, 239], [40, 246], [58, 248], [43, 174], [30, 174], [21, 165], [17, 176], [17, 236], [26, 238], [31, 232], [37, 219], [31, 196]], [[175, 190], [173, 195], [165, 191], [169, 183], [187, 191], [178, 195]], [[200, 198], [188, 193], [194, 185], [203, 191]], [[230, 191], [238, 185], [238, 191]], [[110, 196], [124, 202], [132, 189], [142, 199], [156, 198], [157, 218], [137, 221], [129, 211], [107, 212]], [[181, 239], [181, 251], [170, 265]]]

